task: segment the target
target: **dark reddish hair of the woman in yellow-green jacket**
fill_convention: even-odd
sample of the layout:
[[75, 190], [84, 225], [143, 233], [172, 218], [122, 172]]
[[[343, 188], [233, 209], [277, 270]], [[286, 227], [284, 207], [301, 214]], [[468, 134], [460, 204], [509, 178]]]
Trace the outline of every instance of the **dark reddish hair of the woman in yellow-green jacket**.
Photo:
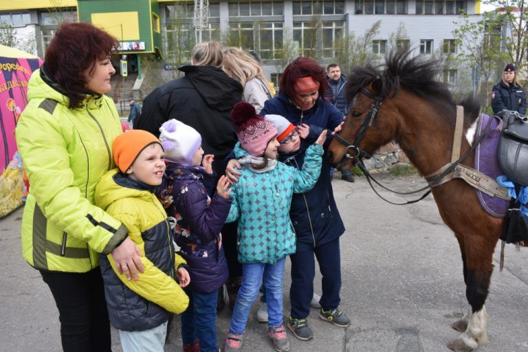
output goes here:
[[69, 98], [69, 108], [80, 107], [86, 95], [89, 74], [99, 60], [118, 48], [118, 40], [90, 23], [63, 23], [47, 47], [44, 68], [55, 83], [63, 88]]

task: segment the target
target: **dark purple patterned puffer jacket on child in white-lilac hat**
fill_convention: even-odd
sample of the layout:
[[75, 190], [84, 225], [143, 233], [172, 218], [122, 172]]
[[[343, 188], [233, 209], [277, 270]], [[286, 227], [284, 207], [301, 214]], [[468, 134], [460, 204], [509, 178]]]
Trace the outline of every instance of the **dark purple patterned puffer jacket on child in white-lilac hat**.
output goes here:
[[231, 208], [231, 199], [214, 192], [214, 174], [201, 167], [167, 163], [160, 200], [169, 217], [176, 218], [175, 239], [187, 261], [189, 289], [214, 292], [228, 278], [220, 230]]

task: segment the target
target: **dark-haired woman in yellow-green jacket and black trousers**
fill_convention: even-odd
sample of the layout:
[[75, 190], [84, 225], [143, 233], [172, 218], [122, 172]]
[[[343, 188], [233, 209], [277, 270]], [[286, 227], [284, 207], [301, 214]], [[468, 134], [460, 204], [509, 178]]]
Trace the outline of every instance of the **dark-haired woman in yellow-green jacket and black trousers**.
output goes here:
[[98, 253], [111, 254], [127, 277], [143, 271], [126, 228], [94, 206], [99, 179], [114, 167], [122, 133], [110, 98], [118, 42], [88, 23], [65, 23], [28, 85], [16, 129], [30, 181], [22, 221], [24, 259], [39, 270], [59, 311], [63, 350], [111, 351]]

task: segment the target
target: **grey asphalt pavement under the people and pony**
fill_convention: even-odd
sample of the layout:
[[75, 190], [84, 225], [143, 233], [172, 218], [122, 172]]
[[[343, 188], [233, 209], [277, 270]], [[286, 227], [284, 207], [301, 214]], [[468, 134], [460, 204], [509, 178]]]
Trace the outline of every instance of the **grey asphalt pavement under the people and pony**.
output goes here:
[[[399, 190], [423, 186], [420, 177], [382, 175]], [[342, 329], [318, 318], [312, 309], [314, 339], [296, 340], [292, 351], [437, 352], [456, 338], [451, 323], [467, 310], [462, 262], [456, 239], [441, 221], [432, 197], [410, 206], [379, 199], [364, 177], [351, 184], [333, 181], [334, 194], [347, 228], [341, 237], [340, 308], [351, 318]], [[383, 195], [395, 201], [401, 196]], [[61, 351], [58, 312], [39, 272], [21, 255], [22, 209], [0, 219], [0, 351]], [[528, 352], [528, 248], [507, 245], [505, 269], [495, 270], [487, 299], [487, 347], [482, 352]], [[285, 317], [289, 314], [289, 260], [284, 283]], [[314, 282], [320, 293], [320, 274]], [[254, 305], [243, 351], [273, 351], [266, 325], [256, 322]], [[227, 333], [230, 309], [219, 313], [219, 341]], [[113, 331], [113, 351], [122, 351]], [[165, 351], [181, 351], [179, 322], [170, 331]]]

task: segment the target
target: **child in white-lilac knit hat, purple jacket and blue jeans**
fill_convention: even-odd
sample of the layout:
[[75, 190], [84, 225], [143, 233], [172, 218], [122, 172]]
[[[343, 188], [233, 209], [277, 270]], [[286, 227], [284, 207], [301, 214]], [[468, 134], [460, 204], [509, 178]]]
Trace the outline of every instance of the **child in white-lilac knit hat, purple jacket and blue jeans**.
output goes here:
[[189, 307], [181, 314], [184, 351], [217, 352], [217, 295], [228, 278], [220, 230], [231, 206], [229, 182], [220, 177], [214, 193], [214, 157], [203, 155], [195, 129], [172, 119], [159, 131], [166, 162], [160, 198], [177, 220], [175, 240], [191, 281]]

